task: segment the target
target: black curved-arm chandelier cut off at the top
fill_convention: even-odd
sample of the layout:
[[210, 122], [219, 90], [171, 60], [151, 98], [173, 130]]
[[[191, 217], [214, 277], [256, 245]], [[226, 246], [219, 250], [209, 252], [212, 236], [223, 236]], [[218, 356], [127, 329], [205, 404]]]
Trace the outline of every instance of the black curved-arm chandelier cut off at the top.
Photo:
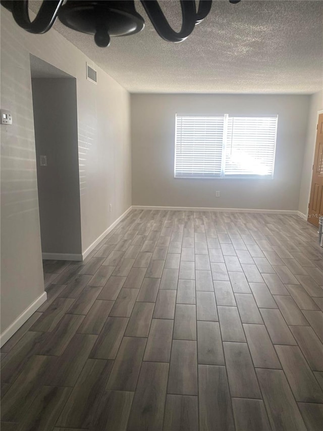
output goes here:
[[[180, 0], [182, 28], [179, 32], [169, 25], [155, 0], [140, 0], [156, 32], [169, 42], [182, 42], [196, 24], [209, 13], [212, 0], [200, 0], [196, 10], [195, 0]], [[240, 0], [229, 0], [239, 3]], [[13, 14], [16, 23], [30, 33], [46, 33], [56, 18], [73, 30], [94, 34], [97, 46], [105, 47], [111, 36], [127, 36], [141, 31], [144, 19], [136, 12], [134, 0], [44, 0], [38, 14], [30, 21], [28, 0], [1, 0], [0, 3]]]

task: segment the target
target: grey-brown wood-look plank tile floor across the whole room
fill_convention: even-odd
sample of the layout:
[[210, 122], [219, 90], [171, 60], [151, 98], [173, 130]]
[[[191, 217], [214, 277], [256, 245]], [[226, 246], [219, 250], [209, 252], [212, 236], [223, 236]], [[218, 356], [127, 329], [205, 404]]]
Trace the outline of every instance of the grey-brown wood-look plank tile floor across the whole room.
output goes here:
[[2, 429], [323, 429], [323, 249], [297, 216], [133, 210], [2, 348]]

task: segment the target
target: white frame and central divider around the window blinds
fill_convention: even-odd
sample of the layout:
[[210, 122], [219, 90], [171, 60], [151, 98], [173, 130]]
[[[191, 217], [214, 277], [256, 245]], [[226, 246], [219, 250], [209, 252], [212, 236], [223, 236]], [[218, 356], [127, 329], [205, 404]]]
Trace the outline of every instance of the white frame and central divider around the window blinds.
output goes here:
[[[177, 138], [177, 117], [219, 117], [223, 116], [227, 119], [230, 118], [276, 118], [276, 128], [275, 128], [275, 144], [274, 144], [274, 154], [273, 154], [273, 170], [271, 174], [261, 175], [261, 174], [225, 174], [225, 164], [226, 164], [226, 145], [227, 145], [227, 127], [228, 124], [224, 121], [224, 132], [223, 132], [223, 146], [222, 146], [222, 163], [221, 163], [221, 174], [219, 176], [177, 176], [176, 175], [176, 138]], [[175, 114], [175, 139], [174, 139], [174, 178], [175, 179], [206, 179], [206, 180], [217, 180], [217, 179], [262, 179], [271, 180], [274, 179], [275, 172], [275, 161], [276, 161], [276, 150], [277, 150], [277, 132], [278, 132], [278, 114], [266, 114], [266, 115], [230, 115], [230, 114]]]

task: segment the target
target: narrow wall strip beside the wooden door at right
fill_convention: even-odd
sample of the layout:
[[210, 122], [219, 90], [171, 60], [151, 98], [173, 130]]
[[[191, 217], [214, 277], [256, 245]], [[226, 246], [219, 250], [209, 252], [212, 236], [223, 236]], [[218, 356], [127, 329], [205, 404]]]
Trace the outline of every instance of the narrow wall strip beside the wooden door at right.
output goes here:
[[302, 180], [299, 193], [298, 211], [308, 214], [308, 203], [312, 182], [312, 166], [314, 161], [317, 111], [323, 109], [323, 90], [314, 93], [310, 98], [310, 109], [307, 121], [306, 145], [303, 156]]

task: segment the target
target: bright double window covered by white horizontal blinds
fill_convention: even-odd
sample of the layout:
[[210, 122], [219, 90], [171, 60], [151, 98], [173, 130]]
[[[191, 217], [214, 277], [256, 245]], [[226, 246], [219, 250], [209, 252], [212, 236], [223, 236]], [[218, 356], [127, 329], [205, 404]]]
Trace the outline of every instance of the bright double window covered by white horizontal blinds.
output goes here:
[[278, 117], [176, 116], [175, 177], [273, 177]]

